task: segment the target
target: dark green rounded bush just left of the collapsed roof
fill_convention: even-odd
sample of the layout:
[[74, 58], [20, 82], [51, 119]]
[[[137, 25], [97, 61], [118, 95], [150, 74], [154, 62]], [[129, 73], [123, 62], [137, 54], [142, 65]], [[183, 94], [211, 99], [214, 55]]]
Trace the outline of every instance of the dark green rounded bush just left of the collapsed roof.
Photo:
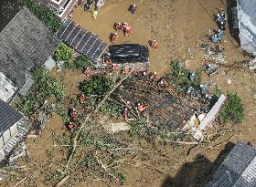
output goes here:
[[80, 89], [87, 96], [101, 96], [110, 91], [113, 87], [112, 78], [106, 78], [104, 75], [97, 75], [90, 80], [85, 80], [81, 83]]

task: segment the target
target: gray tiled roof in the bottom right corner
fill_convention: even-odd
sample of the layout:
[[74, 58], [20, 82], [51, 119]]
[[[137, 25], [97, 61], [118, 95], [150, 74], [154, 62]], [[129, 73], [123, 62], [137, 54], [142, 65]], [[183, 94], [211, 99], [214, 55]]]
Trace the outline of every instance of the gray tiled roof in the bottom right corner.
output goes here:
[[255, 187], [256, 150], [238, 143], [214, 173], [207, 187]]

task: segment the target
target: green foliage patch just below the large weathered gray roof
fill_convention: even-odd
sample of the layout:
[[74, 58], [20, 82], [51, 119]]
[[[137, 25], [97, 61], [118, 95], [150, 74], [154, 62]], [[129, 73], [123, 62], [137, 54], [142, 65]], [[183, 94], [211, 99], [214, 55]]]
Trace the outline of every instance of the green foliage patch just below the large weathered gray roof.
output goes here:
[[26, 97], [17, 101], [16, 107], [26, 116], [36, 111], [49, 97], [60, 100], [65, 96], [66, 88], [58, 78], [50, 76], [45, 69], [38, 68], [32, 73], [34, 84]]

